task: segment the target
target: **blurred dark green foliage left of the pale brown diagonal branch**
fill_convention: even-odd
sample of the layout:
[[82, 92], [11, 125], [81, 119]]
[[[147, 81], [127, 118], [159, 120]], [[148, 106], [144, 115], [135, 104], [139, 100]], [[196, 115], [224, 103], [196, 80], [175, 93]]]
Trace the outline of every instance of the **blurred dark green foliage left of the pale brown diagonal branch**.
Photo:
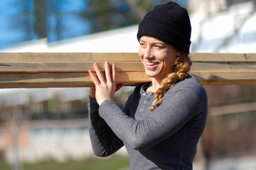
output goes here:
[[88, 1], [80, 14], [90, 23], [90, 33], [100, 32], [137, 23], [137, 18], [124, 1]]

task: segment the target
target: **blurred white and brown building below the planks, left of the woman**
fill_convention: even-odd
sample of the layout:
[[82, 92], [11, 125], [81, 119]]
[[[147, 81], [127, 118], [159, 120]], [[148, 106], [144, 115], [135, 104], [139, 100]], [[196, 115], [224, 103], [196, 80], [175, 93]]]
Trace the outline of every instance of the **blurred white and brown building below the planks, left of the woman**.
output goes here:
[[[121, 105], [131, 94], [131, 88], [125, 88], [115, 95]], [[13, 162], [15, 140], [19, 160], [25, 162], [93, 157], [88, 132], [88, 96], [89, 88], [2, 91], [0, 161]], [[123, 148], [117, 154], [127, 153]]]

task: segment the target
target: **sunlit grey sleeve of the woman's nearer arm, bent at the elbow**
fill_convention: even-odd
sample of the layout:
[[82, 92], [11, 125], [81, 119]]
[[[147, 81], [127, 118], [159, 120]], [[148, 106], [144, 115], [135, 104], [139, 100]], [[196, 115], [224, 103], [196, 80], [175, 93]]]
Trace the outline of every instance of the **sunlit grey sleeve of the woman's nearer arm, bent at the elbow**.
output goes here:
[[194, 116], [205, 113], [202, 112], [207, 107], [204, 88], [195, 84], [181, 84], [167, 91], [163, 103], [143, 120], [127, 116], [111, 100], [101, 104], [99, 114], [131, 148], [149, 149], [177, 132]]

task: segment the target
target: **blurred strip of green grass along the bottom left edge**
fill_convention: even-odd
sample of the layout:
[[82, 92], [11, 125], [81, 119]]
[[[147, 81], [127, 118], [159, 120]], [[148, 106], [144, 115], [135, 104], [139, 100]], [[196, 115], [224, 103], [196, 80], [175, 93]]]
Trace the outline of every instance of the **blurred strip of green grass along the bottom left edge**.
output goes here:
[[[88, 159], [83, 161], [69, 161], [65, 163], [43, 162], [24, 163], [24, 170], [117, 170], [129, 169], [129, 157], [111, 157]], [[11, 165], [0, 163], [1, 170], [11, 170]]]

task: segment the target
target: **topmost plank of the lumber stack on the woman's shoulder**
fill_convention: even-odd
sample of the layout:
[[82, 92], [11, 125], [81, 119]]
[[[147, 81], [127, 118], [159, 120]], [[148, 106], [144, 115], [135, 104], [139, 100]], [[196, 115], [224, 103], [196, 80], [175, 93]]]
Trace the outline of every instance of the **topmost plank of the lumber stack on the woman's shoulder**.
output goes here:
[[[190, 53], [192, 62], [256, 62], [255, 53]], [[0, 53], [1, 62], [140, 62], [138, 53]]]

